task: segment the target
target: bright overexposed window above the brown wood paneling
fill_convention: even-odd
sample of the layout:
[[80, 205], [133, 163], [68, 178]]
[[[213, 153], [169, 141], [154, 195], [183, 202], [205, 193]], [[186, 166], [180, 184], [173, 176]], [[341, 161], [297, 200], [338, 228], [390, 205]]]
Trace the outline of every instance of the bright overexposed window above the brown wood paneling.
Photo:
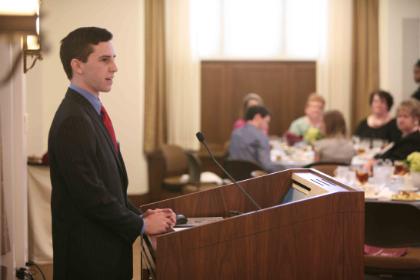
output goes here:
[[200, 58], [316, 59], [326, 0], [191, 0]]

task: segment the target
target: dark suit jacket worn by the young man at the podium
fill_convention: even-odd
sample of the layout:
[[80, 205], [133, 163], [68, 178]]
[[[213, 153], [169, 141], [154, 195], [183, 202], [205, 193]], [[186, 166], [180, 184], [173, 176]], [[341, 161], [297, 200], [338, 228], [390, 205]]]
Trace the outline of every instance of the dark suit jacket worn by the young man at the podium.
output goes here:
[[132, 243], [143, 220], [101, 117], [69, 89], [52, 122], [48, 153], [54, 279], [132, 278]]

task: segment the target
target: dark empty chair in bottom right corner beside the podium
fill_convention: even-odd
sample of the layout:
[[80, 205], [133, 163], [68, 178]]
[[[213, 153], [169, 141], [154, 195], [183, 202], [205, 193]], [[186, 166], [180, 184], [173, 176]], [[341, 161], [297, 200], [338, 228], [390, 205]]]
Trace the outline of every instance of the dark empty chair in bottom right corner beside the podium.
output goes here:
[[373, 246], [407, 247], [402, 257], [365, 255], [365, 272], [388, 277], [420, 279], [420, 209], [414, 203], [365, 204], [365, 243]]

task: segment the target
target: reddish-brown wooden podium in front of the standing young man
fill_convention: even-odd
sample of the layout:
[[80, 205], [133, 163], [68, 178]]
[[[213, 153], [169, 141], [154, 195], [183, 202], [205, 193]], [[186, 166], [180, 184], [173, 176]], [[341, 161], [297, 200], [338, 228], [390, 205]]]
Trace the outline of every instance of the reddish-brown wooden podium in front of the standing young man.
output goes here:
[[[302, 176], [308, 184], [297, 181]], [[144, 237], [149, 279], [363, 279], [363, 192], [313, 169], [240, 184], [261, 210], [233, 184], [141, 207], [224, 217]]]

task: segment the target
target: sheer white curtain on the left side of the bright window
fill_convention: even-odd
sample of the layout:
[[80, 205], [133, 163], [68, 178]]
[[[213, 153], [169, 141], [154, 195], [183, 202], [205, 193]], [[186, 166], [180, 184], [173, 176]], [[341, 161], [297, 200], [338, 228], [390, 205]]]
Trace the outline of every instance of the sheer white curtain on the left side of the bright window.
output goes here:
[[190, 44], [189, 0], [165, 2], [168, 141], [198, 149], [200, 129], [200, 61]]

